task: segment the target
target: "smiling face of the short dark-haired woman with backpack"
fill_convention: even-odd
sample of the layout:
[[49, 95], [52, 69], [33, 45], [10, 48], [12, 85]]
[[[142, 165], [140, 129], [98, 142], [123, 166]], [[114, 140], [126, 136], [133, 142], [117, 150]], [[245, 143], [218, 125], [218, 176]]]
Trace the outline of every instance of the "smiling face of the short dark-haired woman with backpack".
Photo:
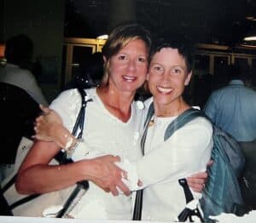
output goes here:
[[191, 72], [188, 73], [185, 60], [177, 49], [163, 48], [154, 54], [150, 62], [148, 88], [156, 102], [175, 106], [182, 98], [190, 77]]

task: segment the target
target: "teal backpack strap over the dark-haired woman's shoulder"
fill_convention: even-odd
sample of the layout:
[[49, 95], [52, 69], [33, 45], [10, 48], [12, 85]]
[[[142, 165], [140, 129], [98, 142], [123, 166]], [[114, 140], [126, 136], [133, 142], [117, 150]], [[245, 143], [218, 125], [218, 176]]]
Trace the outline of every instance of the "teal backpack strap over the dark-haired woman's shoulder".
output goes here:
[[164, 136], [164, 140], [168, 140], [172, 134], [177, 130], [183, 127], [186, 123], [189, 123], [195, 117], [205, 117], [204, 114], [195, 108], [189, 108], [180, 114], [177, 118], [175, 118], [172, 123], [170, 123], [166, 129], [166, 133]]

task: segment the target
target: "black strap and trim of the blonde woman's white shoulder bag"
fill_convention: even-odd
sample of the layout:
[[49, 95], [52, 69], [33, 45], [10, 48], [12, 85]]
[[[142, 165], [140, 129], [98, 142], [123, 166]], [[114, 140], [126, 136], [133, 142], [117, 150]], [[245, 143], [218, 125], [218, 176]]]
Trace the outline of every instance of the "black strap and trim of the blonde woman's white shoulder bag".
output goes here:
[[[85, 100], [86, 97], [86, 93], [84, 91], [84, 89], [78, 89], [79, 94], [81, 94], [81, 108], [79, 111], [79, 115], [77, 117], [76, 123], [74, 124], [73, 127], [73, 135], [78, 135], [77, 138], [80, 139], [82, 137], [83, 134], [83, 129], [84, 129], [84, 117], [85, 117], [85, 108], [87, 105], [87, 102], [92, 101], [91, 99], [89, 100]], [[67, 158], [67, 154], [66, 152], [58, 152], [55, 155], [55, 160], [58, 161], [60, 164], [64, 164], [64, 163], [73, 163], [72, 159], [68, 159]], [[3, 186], [2, 188], [2, 192], [6, 192], [10, 186], [12, 186], [13, 184], [15, 184], [15, 179], [17, 177], [17, 174], [15, 174], [15, 176], [9, 180], [9, 182]], [[79, 191], [81, 191], [81, 189], [83, 190], [88, 190], [89, 188], [89, 183], [87, 180], [83, 180], [77, 183], [77, 186], [74, 188], [73, 192], [71, 193], [71, 195], [67, 198], [66, 203], [63, 206], [63, 209], [61, 209], [61, 211], [57, 214], [57, 218], [61, 218], [63, 217], [63, 215], [65, 213], [67, 213], [67, 209], [69, 207], [69, 205], [73, 202], [73, 199], [79, 194]], [[24, 197], [22, 199], [20, 199], [19, 201], [12, 203], [11, 205], [9, 205], [9, 209], [15, 209], [16, 207], [20, 206], [21, 204], [27, 203], [29, 201], [32, 201], [32, 199], [39, 197], [41, 194], [32, 194], [29, 195], [27, 197]]]

